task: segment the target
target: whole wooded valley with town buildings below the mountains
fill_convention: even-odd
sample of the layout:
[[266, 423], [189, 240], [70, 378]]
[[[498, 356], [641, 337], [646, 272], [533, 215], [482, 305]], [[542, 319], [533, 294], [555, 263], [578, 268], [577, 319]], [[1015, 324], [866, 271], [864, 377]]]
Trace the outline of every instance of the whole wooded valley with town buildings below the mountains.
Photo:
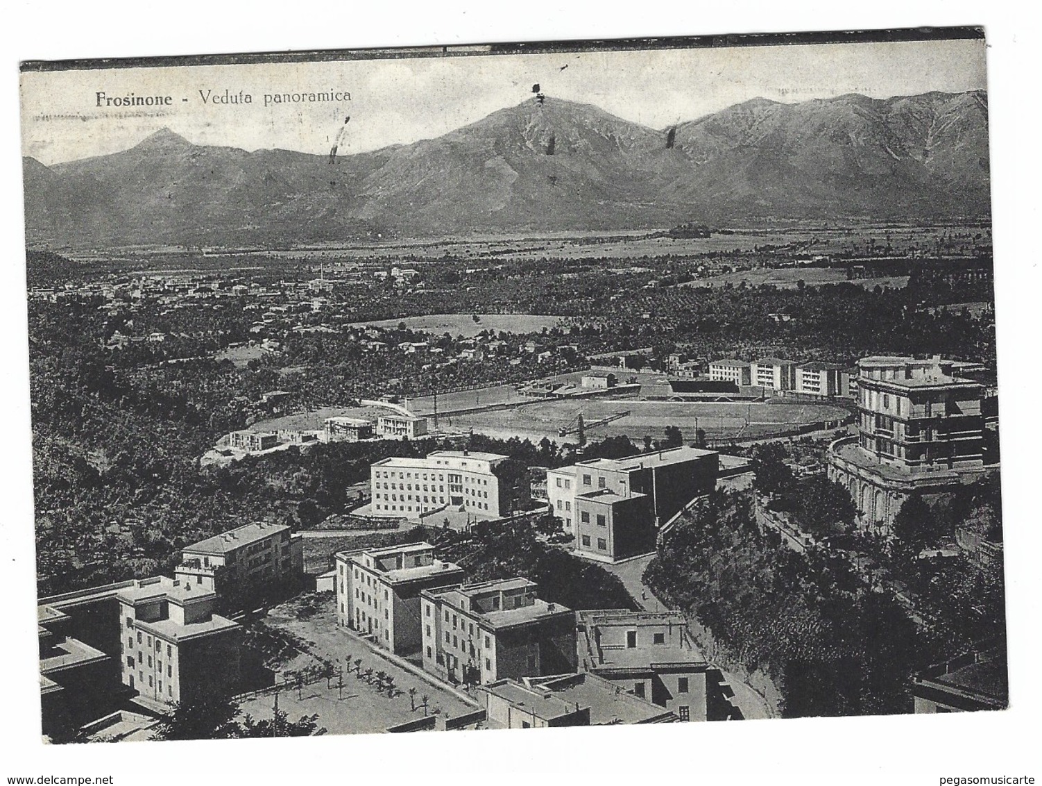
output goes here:
[[30, 252], [44, 734], [1004, 706], [990, 239], [858, 231]]

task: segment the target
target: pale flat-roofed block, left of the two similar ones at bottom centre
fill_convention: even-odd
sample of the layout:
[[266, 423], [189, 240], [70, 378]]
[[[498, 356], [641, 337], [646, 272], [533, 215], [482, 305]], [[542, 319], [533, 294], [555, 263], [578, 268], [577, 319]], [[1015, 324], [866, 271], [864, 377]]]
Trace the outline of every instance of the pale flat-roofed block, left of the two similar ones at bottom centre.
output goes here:
[[413, 653], [422, 641], [420, 593], [466, 578], [458, 565], [436, 559], [429, 543], [340, 551], [337, 621], [392, 653]]

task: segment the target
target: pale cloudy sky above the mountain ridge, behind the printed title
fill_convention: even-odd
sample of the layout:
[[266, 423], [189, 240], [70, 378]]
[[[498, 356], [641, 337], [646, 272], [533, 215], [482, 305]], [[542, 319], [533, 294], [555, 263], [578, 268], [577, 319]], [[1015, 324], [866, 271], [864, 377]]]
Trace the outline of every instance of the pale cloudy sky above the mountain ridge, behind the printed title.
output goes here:
[[[361, 152], [479, 120], [530, 99], [535, 82], [547, 95], [655, 128], [755, 97], [796, 102], [987, 87], [979, 40], [26, 73], [23, 152], [56, 164], [124, 150], [166, 126], [196, 144], [325, 154], [348, 115], [340, 152]], [[200, 99], [200, 90], [226, 89], [253, 102]], [[351, 100], [264, 105], [265, 94], [329, 90], [348, 91]], [[160, 110], [102, 109], [98, 91], [174, 102]]]

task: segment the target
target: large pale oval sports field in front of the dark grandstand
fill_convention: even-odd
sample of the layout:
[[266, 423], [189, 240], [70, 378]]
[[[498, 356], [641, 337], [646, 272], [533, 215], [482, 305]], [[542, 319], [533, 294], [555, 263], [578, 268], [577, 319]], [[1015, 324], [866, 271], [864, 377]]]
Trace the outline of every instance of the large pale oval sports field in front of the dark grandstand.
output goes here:
[[[524, 407], [441, 418], [442, 427], [473, 428], [492, 437], [520, 437], [538, 442], [575, 440], [562, 438], [559, 429], [582, 414], [586, 422], [611, 417], [625, 411], [630, 414], [602, 426], [587, 428], [587, 438], [625, 435], [635, 441], [645, 436], [661, 439], [667, 425], [680, 429], [686, 441], [693, 441], [701, 428], [710, 439], [751, 439], [768, 437], [794, 425], [840, 420], [847, 414], [840, 407], [819, 403], [753, 402], [726, 403], [701, 401], [641, 401], [630, 399], [593, 399], [584, 401], [540, 401]], [[574, 425], [572, 426], [574, 427]]]

